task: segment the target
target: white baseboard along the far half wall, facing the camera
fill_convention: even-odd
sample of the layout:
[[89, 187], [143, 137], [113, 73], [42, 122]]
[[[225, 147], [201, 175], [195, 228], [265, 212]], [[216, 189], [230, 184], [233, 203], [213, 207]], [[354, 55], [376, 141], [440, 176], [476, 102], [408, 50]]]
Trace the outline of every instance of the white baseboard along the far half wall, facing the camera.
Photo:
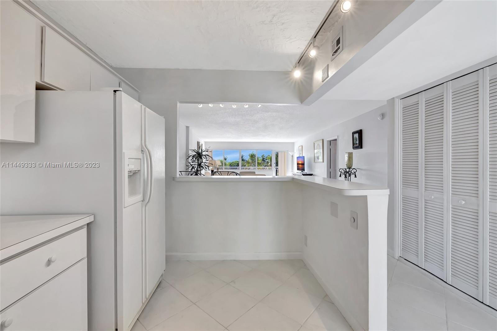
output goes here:
[[302, 258], [302, 252], [166, 253], [166, 260], [287, 260]]

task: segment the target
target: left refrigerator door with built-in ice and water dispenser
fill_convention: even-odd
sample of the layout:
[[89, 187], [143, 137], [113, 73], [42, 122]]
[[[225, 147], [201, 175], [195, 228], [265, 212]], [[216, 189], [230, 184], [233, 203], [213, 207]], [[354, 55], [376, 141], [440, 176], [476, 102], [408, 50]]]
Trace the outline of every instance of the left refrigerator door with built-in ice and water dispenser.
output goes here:
[[143, 305], [142, 105], [116, 92], [117, 329], [131, 329]]

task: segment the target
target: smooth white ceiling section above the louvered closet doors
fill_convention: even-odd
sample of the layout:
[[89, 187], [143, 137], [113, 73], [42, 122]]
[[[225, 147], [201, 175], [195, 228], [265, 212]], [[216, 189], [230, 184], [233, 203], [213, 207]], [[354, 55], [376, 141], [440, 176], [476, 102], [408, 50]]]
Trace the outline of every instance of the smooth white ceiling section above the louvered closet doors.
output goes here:
[[386, 100], [497, 56], [497, 1], [436, 5], [322, 99]]

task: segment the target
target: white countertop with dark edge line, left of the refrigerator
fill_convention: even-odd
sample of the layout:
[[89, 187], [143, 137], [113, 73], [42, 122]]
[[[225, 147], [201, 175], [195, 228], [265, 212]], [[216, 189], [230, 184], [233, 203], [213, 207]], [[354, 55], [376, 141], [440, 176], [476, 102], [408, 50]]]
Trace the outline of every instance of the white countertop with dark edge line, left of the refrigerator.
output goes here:
[[36, 245], [50, 236], [57, 237], [91, 221], [91, 214], [0, 216], [1, 259], [19, 248]]

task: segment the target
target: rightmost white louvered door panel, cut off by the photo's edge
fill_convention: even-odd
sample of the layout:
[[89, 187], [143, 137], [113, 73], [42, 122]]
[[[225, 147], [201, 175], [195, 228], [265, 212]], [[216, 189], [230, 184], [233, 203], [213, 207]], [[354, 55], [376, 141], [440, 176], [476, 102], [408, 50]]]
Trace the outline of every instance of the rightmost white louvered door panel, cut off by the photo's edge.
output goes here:
[[484, 206], [485, 259], [484, 266], [487, 271], [484, 275], [484, 302], [497, 309], [497, 65], [493, 65], [485, 72], [484, 109], [486, 110], [486, 141], [485, 150], [488, 151], [485, 170], [488, 178], [484, 188], [488, 196], [487, 205]]

